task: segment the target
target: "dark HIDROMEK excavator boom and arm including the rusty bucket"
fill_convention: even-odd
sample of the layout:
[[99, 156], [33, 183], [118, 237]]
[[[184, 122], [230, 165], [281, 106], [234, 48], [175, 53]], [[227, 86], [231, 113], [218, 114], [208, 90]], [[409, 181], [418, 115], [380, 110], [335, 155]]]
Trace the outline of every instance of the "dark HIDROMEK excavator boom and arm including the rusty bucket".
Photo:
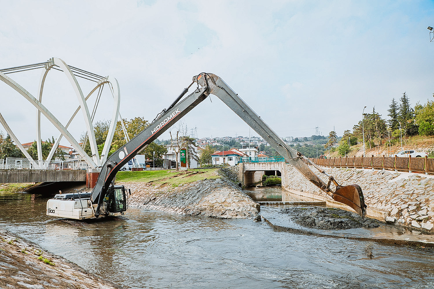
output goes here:
[[[197, 83], [197, 89], [181, 101], [181, 98], [187, 93], [188, 88], [194, 83]], [[178, 98], [167, 108], [161, 111], [155, 120], [141, 131], [137, 136], [125, 144], [122, 148], [113, 153], [102, 166], [102, 171], [99, 175], [98, 181], [91, 194], [91, 201], [97, 205], [95, 210], [95, 217], [100, 214], [106, 214], [106, 208], [101, 209], [104, 197], [108, 194], [109, 186], [112, 184], [116, 173], [122, 168], [128, 160], [132, 159], [136, 154], [157, 139], [165, 130], [176, 123], [187, 112], [192, 110], [197, 104], [203, 101], [209, 94], [214, 94], [220, 98], [230, 109], [232, 109], [241, 119], [243, 119], [253, 130], [263, 137], [276, 151], [282, 155], [286, 162], [293, 165], [299, 172], [302, 173], [312, 182], [319, 187], [322, 191], [327, 193], [335, 201], [349, 205], [360, 216], [365, 216], [366, 205], [363, 198], [362, 189], [358, 185], [339, 185], [335, 179], [327, 175], [322, 169], [310, 162], [305, 156], [297, 152], [295, 149], [287, 146], [277, 136], [273, 130], [258, 116], [222, 79], [217, 75], [209, 73], [201, 73], [193, 78], [193, 82], [188, 88], [178, 96]], [[327, 184], [316, 175], [309, 166], [316, 167], [321, 173], [329, 177]], [[335, 192], [332, 192], [330, 185], [336, 186]]]

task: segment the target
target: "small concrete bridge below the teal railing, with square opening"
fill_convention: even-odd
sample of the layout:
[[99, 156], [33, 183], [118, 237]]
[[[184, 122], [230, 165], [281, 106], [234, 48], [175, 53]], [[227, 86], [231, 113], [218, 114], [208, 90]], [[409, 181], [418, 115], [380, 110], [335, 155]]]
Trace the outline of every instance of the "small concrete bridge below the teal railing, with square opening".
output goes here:
[[285, 162], [240, 162], [239, 179], [243, 180], [243, 186], [259, 183], [263, 175], [282, 176]]

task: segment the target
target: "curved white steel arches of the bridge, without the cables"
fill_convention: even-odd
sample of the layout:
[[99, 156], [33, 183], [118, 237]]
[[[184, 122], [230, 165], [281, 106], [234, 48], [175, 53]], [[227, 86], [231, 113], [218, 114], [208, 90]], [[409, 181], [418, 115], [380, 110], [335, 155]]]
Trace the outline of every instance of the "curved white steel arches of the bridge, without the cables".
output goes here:
[[[76, 96], [79, 100], [79, 106], [77, 107], [76, 111], [72, 114], [71, 118], [69, 119], [68, 123], [66, 124], [66, 126], [64, 127], [59, 120], [56, 119], [56, 117], [53, 116], [53, 114], [51, 114], [49, 112], [49, 110], [46, 109], [46, 107], [43, 106], [42, 104], [42, 95], [43, 95], [43, 87], [45, 84], [45, 80], [46, 80], [46, 76], [48, 74], [48, 71], [53, 68], [53, 66], [58, 66], [66, 75], [66, 77], [68, 78], [68, 80], [70, 81], [72, 88], [74, 89]], [[36, 113], [36, 137], [37, 137], [37, 151], [38, 151], [38, 159], [39, 162], [38, 164], [40, 165], [42, 162], [42, 145], [41, 145], [41, 127], [40, 127], [40, 114], [44, 114], [47, 119], [53, 123], [53, 125], [59, 130], [60, 134], [59, 137], [57, 138], [56, 142], [53, 145], [53, 148], [51, 149], [49, 156], [47, 157], [45, 162], [49, 162], [51, 160], [51, 158], [53, 157], [53, 154], [57, 148], [57, 146], [59, 145], [60, 140], [62, 139], [62, 136], [65, 136], [65, 138], [72, 144], [72, 146], [74, 147], [74, 149], [76, 149], [78, 151], [78, 153], [85, 159], [85, 161], [88, 163], [88, 165], [91, 168], [100, 168], [101, 164], [105, 162], [105, 160], [107, 159], [108, 153], [109, 153], [109, 149], [110, 149], [110, 145], [112, 143], [112, 139], [115, 133], [115, 129], [116, 129], [116, 124], [117, 124], [117, 120], [118, 117], [120, 117], [119, 114], [119, 107], [120, 107], [120, 88], [119, 88], [119, 84], [118, 81], [116, 80], [116, 78], [113, 78], [111, 76], [107, 76], [106, 78], [102, 78], [95, 86], [95, 88], [92, 89], [92, 91], [90, 91], [90, 93], [84, 97], [82, 90], [79, 86], [79, 83], [76, 79], [76, 77], [74, 76], [72, 70], [69, 68], [68, 65], [66, 65], [65, 62], [63, 62], [61, 59], [59, 58], [52, 58], [50, 59], [50, 61], [45, 65], [45, 71], [42, 72], [40, 80], [39, 80], [39, 88], [38, 88], [38, 96], [39, 96], [39, 101], [33, 97], [32, 94], [30, 94], [28, 91], [26, 91], [23, 87], [21, 87], [19, 84], [17, 84], [15, 81], [13, 81], [11, 78], [9, 78], [7, 75], [3, 74], [0, 72], [0, 80], [3, 81], [4, 83], [8, 84], [10, 87], [12, 87], [13, 89], [15, 89], [17, 92], [19, 92], [23, 97], [25, 97], [31, 104], [33, 104], [33, 106], [36, 107], [37, 109], [37, 113]], [[99, 158], [99, 153], [98, 153], [98, 147], [95, 141], [95, 133], [93, 130], [93, 124], [92, 124], [92, 120], [91, 120], [91, 116], [89, 114], [89, 109], [86, 103], [86, 100], [98, 89], [101, 88], [102, 85], [104, 84], [108, 84], [110, 87], [110, 91], [112, 92], [112, 96], [113, 96], [113, 101], [114, 101], [114, 105], [113, 105], [113, 110], [112, 110], [112, 120], [110, 122], [110, 127], [109, 127], [109, 133], [107, 135], [107, 138], [105, 140], [104, 143], [104, 148], [102, 150], [102, 154], [101, 154], [101, 158]], [[96, 105], [95, 108], [96, 110]], [[69, 127], [69, 124], [72, 122], [72, 120], [76, 117], [76, 114], [79, 112], [79, 110], [82, 111], [85, 123], [86, 123], [86, 130], [87, 133], [89, 135], [89, 143], [91, 146], [91, 151], [92, 151], [92, 158], [90, 158], [82, 149], [81, 146], [79, 146], [79, 144], [77, 143], [77, 141], [72, 137], [72, 135], [68, 132], [67, 128]], [[122, 123], [122, 127], [125, 127], [123, 120], [121, 118], [121, 123]], [[19, 140], [16, 138], [15, 134], [12, 132], [12, 130], [10, 130], [10, 127], [7, 125], [6, 121], [3, 119], [3, 117], [0, 114], [0, 123], [3, 125], [3, 127], [5, 128], [5, 130], [7, 130], [7, 133], [11, 136], [11, 138], [13, 139], [13, 141], [17, 144], [17, 146], [20, 148], [20, 150], [23, 152], [23, 154], [27, 157], [30, 158], [30, 155], [27, 153], [26, 149], [23, 148], [23, 146], [21, 146], [21, 143], [19, 142]], [[36, 162], [33, 163], [34, 166], [38, 166], [38, 164], [36, 164]]]

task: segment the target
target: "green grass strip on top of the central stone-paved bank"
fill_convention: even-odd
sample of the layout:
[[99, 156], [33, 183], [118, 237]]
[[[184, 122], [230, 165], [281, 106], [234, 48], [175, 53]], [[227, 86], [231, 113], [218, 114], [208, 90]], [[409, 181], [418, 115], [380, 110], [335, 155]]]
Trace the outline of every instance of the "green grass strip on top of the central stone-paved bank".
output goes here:
[[180, 184], [187, 184], [203, 179], [218, 179], [217, 169], [195, 169], [188, 171], [158, 170], [141, 172], [118, 172], [117, 182], [145, 182], [155, 185], [170, 184], [177, 187]]

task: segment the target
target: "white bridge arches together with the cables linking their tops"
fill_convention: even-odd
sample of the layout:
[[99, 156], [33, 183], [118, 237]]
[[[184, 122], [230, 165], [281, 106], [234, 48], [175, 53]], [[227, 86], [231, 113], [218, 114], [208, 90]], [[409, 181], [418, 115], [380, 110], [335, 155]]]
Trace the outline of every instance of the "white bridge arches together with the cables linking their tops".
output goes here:
[[[9, 74], [9, 73], [20, 72], [20, 71], [36, 69], [36, 68], [43, 68], [44, 69], [44, 71], [42, 71], [41, 77], [39, 79], [38, 95], [37, 95], [38, 99], [36, 99], [36, 97], [34, 97], [32, 94], [30, 94], [30, 92], [28, 92], [26, 89], [24, 89], [22, 86], [20, 86], [20, 84], [16, 83], [16, 81], [14, 81], [12, 78], [7, 76], [7, 74]], [[68, 123], [65, 126], [63, 126], [62, 123], [60, 123], [60, 121], [56, 117], [54, 117], [54, 115], [42, 104], [44, 84], [45, 84], [48, 72], [51, 69], [60, 70], [60, 71], [63, 71], [65, 73], [65, 75], [68, 78], [69, 82], [71, 83], [72, 88], [73, 88], [73, 90], [77, 96], [78, 101], [79, 101], [79, 106], [77, 107], [75, 112], [72, 114], [71, 118], [69, 119]], [[79, 86], [79, 83], [76, 79], [76, 76], [96, 82], [95, 87], [92, 89], [92, 91], [89, 92], [89, 94], [86, 97], [84, 96], [82, 89]], [[9, 85], [11, 88], [13, 88], [15, 91], [17, 91], [19, 94], [21, 94], [27, 101], [29, 101], [36, 108], [36, 145], [37, 145], [37, 153], [38, 153], [38, 162], [33, 161], [33, 166], [35, 166], [35, 167], [42, 168], [43, 166], [46, 165], [46, 163], [48, 163], [51, 160], [57, 146], [59, 145], [60, 140], [62, 139], [63, 136], [65, 136], [65, 138], [69, 141], [69, 143], [71, 143], [71, 145], [74, 147], [74, 149], [76, 149], [77, 152], [82, 156], [82, 158], [87, 162], [89, 167], [91, 167], [93, 169], [100, 168], [101, 163], [104, 163], [105, 160], [107, 159], [110, 145], [112, 143], [112, 139], [113, 139], [113, 136], [115, 133], [118, 118], [120, 118], [120, 121], [122, 123], [122, 128], [124, 130], [125, 138], [128, 139], [128, 135], [127, 135], [127, 132], [125, 130], [125, 124], [123, 123], [122, 117], [119, 113], [120, 88], [119, 88], [118, 81], [114, 77], [111, 77], [111, 76], [102, 77], [100, 75], [96, 75], [94, 73], [84, 71], [82, 69], [75, 68], [73, 66], [69, 66], [60, 58], [51, 58], [47, 62], [41, 62], [41, 63], [37, 63], [37, 64], [32, 64], [32, 65], [23, 65], [23, 66], [19, 66], [19, 67], [15, 67], [15, 68], [0, 69], [0, 81], [3, 81], [7, 85]], [[112, 119], [110, 122], [109, 133], [108, 133], [107, 138], [105, 140], [104, 148], [103, 148], [102, 153], [101, 153], [101, 157], [99, 157], [98, 147], [97, 147], [96, 140], [95, 140], [95, 133], [93, 130], [92, 121], [93, 121], [93, 117], [94, 117], [96, 108], [97, 108], [98, 103], [99, 103], [99, 97], [101, 97], [101, 92], [102, 92], [102, 88], [103, 88], [104, 84], [107, 84], [110, 88], [110, 91], [111, 91], [111, 94], [113, 97], [113, 101], [114, 101], [114, 105], [113, 105], [113, 110], [112, 110]], [[92, 114], [90, 114], [90, 111], [89, 111], [89, 108], [88, 108], [86, 101], [89, 99], [89, 97], [97, 89], [99, 90], [98, 91], [99, 95], [97, 96], [97, 102], [95, 102]], [[84, 149], [78, 144], [78, 142], [75, 140], [75, 138], [67, 130], [67, 128], [69, 127], [69, 124], [76, 117], [76, 114], [80, 110], [82, 111], [83, 118], [84, 118], [84, 121], [86, 124], [86, 132], [87, 132], [87, 135], [89, 136], [89, 143], [91, 146], [92, 158], [89, 157], [85, 153]], [[47, 157], [47, 159], [45, 161], [43, 161], [43, 159], [42, 159], [41, 122], [40, 122], [41, 113], [59, 130], [59, 136], [57, 137], [55, 144], [53, 145], [53, 148], [51, 149], [49, 156]], [[7, 124], [6, 120], [3, 118], [1, 113], [0, 113], [0, 123], [3, 125], [3, 127], [7, 131], [7, 133], [11, 136], [12, 140], [16, 143], [16, 145], [21, 150], [21, 152], [27, 158], [32, 159], [30, 157], [29, 153], [27, 153], [26, 149], [24, 149], [24, 147], [21, 145], [21, 143], [18, 140], [18, 138], [16, 137], [16, 135], [10, 129], [9, 125]]]

